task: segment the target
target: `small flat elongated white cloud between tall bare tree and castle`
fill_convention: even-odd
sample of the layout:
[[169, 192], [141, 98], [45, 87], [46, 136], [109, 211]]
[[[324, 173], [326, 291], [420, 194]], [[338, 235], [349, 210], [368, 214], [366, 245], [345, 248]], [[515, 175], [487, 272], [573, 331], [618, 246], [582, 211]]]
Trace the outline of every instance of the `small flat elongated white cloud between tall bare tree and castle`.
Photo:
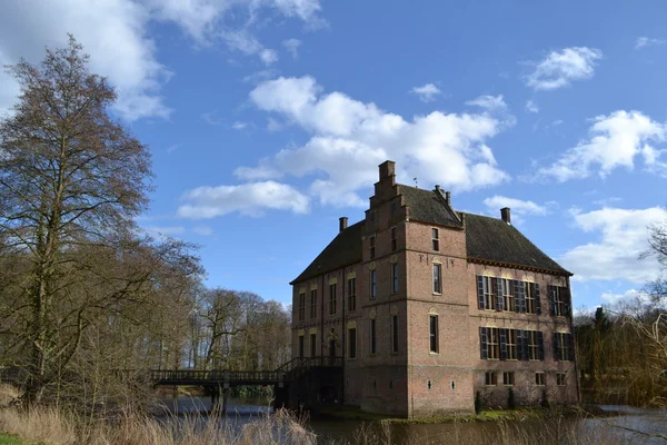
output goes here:
[[198, 187], [183, 196], [178, 215], [190, 219], [215, 218], [238, 211], [261, 216], [266, 209], [308, 211], [308, 197], [286, 184], [250, 182], [239, 186]]

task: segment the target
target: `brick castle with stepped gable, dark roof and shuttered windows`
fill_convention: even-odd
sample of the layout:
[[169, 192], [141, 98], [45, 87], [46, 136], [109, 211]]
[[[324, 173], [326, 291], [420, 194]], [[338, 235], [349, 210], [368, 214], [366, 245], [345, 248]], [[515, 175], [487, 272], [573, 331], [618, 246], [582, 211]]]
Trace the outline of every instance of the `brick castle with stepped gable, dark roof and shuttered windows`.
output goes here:
[[476, 397], [576, 403], [573, 274], [510, 209], [456, 211], [439, 186], [396, 184], [392, 161], [379, 176], [366, 218], [340, 218], [291, 283], [292, 356], [344, 357], [341, 389], [322, 399], [404, 417], [472, 412]]

